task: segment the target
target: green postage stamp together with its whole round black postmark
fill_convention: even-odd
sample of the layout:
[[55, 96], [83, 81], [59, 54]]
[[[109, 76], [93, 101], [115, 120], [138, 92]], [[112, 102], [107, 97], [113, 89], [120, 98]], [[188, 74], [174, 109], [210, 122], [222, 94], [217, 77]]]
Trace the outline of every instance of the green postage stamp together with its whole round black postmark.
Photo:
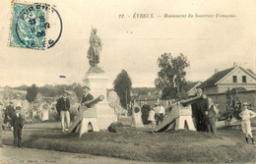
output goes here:
[[[49, 15], [56, 19], [49, 19]], [[49, 20], [53, 23], [50, 23]], [[50, 30], [50, 28], [53, 29]], [[42, 3], [13, 4], [9, 37], [11, 47], [44, 50], [53, 47], [61, 33], [62, 20], [54, 7]]]

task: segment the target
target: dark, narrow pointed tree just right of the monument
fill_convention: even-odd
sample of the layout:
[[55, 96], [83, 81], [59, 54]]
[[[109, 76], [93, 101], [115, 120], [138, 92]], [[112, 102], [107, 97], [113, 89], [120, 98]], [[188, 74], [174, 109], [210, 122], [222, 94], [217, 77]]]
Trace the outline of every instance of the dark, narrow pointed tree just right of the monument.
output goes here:
[[113, 82], [114, 91], [120, 97], [121, 106], [127, 109], [127, 103], [131, 100], [131, 87], [132, 82], [125, 70], [122, 70], [120, 74], [117, 75], [116, 79]]

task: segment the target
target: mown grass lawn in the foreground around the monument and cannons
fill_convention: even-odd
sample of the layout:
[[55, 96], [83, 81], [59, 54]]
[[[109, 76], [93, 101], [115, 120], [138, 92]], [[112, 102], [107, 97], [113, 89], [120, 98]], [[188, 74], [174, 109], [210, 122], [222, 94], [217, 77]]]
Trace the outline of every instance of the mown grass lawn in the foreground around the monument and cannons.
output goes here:
[[[121, 127], [118, 133], [101, 131], [82, 137], [64, 135], [53, 123], [28, 125], [23, 146], [57, 151], [88, 153], [145, 162], [224, 163], [255, 162], [254, 145], [246, 145], [208, 133], [176, 131], [149, 134], [147, 129]], [[12, 144], [12, 133], [5, 132], [3, 142]]]

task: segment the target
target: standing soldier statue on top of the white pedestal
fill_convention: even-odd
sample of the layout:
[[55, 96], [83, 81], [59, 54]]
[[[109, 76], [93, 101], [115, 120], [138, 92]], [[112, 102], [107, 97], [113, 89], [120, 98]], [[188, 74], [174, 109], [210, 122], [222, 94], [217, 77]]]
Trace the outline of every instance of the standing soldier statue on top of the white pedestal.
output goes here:
[[[90, 48], [88, 50], [87, 57], [89, 59], [89, 64], [91, 66], [90, 70], [96, 70], [97, 64], [99, 63], [99, 53], [102, 49], [102, 43], [98, 35], [96, 35], [96, 27], [92, 28], [90, 36]], [[101, 70], [101, 69], [100, 69]]]

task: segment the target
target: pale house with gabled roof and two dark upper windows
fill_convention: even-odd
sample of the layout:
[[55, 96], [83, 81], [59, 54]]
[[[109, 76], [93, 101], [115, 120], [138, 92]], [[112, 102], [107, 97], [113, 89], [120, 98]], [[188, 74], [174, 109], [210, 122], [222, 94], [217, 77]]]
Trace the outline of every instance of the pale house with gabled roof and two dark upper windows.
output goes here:
[[225, 69], [202, 83], [206, 94], [223, 93], [227, 89], [256, 90], [256, 74], [234, 63], [232, 68]]

